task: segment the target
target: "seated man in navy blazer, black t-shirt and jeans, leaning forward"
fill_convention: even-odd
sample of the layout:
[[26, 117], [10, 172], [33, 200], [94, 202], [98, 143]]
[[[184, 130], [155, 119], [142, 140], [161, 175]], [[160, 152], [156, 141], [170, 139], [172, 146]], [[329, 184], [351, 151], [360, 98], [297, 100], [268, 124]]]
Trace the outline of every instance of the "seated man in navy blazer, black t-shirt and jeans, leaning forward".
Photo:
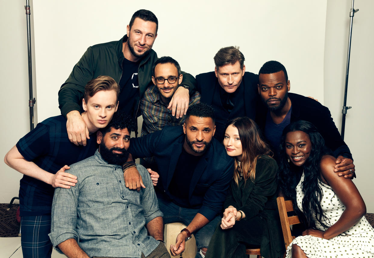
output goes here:
[[172, 255], [184, 251], [185, 241], [194, 233], [198, 253], [205, 255], [222, 211], [226, 191], [233, 176], [234, 160], [213, 138], [214, 111], [205, 103], [187, 110], [182, 126], [141, 138], [132, 138], [129, 152], [134, 157], [154, 156], [159, 183], [156, 194], [164, 223], [181, 221], [187, 227], [171, 245]]

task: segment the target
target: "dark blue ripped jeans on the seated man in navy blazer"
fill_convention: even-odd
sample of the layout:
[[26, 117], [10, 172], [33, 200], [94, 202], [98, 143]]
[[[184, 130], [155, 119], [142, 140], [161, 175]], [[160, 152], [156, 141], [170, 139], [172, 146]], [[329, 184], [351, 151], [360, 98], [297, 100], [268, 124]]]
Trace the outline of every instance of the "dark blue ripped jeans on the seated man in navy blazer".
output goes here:
[[[184, 224], [188, 225], [191, 223], [192, 219], [199, 211], [199, 209], [189, 209], [180, 207], [161, 197], [157, 199], [159, 201], [160, 211], [162, 211], [163, 213], [164, 224], [172, 222], [183, 222]], [[219, 222], [221, 222], [221, 217], [216, 216], [204, 227], [200, 228], [199, 230], [193, 233], [196, 239], [197, 246], [196, 258], [201, 258], [201, 255], [199, 253], [201, 248], [208, 248], [211, 237]]]

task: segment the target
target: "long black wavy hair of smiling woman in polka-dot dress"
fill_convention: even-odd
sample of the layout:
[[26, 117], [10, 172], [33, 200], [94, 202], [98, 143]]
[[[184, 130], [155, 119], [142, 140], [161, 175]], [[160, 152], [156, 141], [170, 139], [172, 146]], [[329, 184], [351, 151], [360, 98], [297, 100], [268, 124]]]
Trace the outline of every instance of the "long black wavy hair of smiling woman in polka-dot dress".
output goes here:
[[[309, 136], [312, 143], [312, 150], [310, 156], [300, 168], [295, 166], [292, 162], [288, 162], [288, 156], [285, 151], [285, 139], [289, 132], [302, 131]], [[309, 122], [300, 120], [286, 126], [282, 133], [281, 149], [280, 149], [280, 165], [279, 165], [279, 187], [283, 194], [292, 200], [294, 203], [294, 210], [309, 227], [316, 229], [316, 223], [313, 219], [313, 213], [316, 214], [317, 221], [323, 227], [329, 227], [326, 222], [328, 217], [324, 215], [321, 208], [322, 188], [319, 185], [321, 180], [320, 162], [322, 156], [331, 154], [325, 147], [325, 140], [318, 132], [317, 128]], [[304, 182], [301, 184], [301, 190], [304, 193], [303, 201], [301, 203], [303, 212], [298, 209], [296, 205], [296, 186], [300, 181], [301, 175], [304, 172]]]

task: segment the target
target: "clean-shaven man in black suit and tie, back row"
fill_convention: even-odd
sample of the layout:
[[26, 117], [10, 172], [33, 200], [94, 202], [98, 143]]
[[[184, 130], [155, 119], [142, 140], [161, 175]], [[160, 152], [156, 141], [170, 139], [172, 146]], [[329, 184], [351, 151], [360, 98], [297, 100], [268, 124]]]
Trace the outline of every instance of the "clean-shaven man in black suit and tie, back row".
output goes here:
[[227, 122], [248, 116], [255, 118], [258, 76], [245, 71], [239, 47], [223, 47], [214, 56], [214, 72], [196, 76], [201, 102], [214, 108], [216, 132], [222, 142]]

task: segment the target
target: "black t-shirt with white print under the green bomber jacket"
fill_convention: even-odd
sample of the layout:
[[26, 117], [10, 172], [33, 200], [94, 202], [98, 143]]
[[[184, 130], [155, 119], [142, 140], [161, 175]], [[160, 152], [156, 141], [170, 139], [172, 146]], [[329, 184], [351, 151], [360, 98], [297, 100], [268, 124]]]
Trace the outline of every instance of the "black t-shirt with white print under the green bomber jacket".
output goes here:
[[135, 97], [139, 95], [138, 67], [139, 62], [132, 62], [126, 58], [122, 61], [122, 76], [119, 81], [119, 111], [126, 110], [126, 114], [133, 114], [137, 104]]

